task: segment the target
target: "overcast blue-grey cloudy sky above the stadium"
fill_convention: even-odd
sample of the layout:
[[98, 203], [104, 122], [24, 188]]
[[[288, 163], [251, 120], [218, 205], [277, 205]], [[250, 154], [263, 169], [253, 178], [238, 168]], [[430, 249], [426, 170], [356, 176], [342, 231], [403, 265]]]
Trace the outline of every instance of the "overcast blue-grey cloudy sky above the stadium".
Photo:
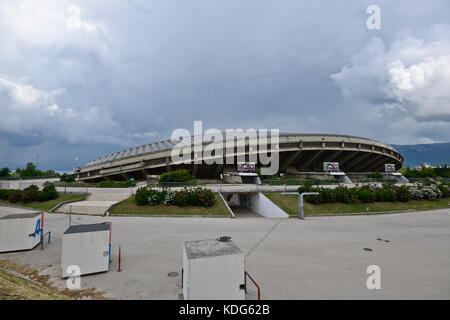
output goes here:
[[1, 0], [0, 167], [39, 156], [71, 170], [194, 120], [450, 141], [449, 12], [447, 0]]

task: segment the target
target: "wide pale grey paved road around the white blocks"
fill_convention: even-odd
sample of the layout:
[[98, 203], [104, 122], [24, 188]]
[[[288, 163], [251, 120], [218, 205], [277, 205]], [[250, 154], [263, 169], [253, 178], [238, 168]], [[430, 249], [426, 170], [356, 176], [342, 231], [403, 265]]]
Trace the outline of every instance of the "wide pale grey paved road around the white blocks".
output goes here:
[[[0, 215], [12, 211], [24, 210], [0, 207]], [[3, 253], [0, 259], [50, 274], [63, 287], [60, 251], [68, 216], [46, 214], [45, 221], [52, 242], [43, 251]], [[221, 235], [232, 236], [247, 255], [246, 269], [261, 286], [262, 299], [450, 298], [450, 209], [304, 221], [81, 215], [72, 221], [112, 222], [109, 272], [82, 277], [82, 289], [95, 287], [112, 298], [178, 299], [183, 242]], [[117, 272], [119, 245], [122, 272]], [[370, 265], [380, 267], [379, 290], [366, 286]], [[247, 299], [255, 297], [249, 287]]]

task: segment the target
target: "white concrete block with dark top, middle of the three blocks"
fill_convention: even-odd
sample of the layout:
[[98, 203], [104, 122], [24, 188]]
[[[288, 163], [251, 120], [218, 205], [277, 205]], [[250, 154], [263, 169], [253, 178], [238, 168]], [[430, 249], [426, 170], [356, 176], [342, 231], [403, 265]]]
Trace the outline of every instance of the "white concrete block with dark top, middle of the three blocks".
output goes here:
[[70, 226], [63, 235], [61, 267], [63, 278], [68, 267], [80, 268], [80, 275], [108, 271], [111, 225], [109, 222]]

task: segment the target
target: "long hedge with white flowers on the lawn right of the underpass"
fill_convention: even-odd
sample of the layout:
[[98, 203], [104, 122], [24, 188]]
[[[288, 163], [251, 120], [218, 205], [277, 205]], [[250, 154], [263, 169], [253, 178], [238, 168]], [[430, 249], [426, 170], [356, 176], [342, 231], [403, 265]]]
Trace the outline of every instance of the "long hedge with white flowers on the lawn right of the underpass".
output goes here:
[[384, 184], [382, 187], [366, 185], [360, 187], [348, 188], [339, 186], [335, 189], [325, 189], [321, 187], [312, 187], [305, 184], [298, 189], [302, 192], [319, 192], [319, 195], [306, 197], [305, 200], [310, 203], [370, 203], [375, 201], [387, 202], [407, 202], [413, 200], [436, 200], [449, 197], [448, 184], [430, 184], [415, 185], [413, 187], [395, 186], [393, 184]]

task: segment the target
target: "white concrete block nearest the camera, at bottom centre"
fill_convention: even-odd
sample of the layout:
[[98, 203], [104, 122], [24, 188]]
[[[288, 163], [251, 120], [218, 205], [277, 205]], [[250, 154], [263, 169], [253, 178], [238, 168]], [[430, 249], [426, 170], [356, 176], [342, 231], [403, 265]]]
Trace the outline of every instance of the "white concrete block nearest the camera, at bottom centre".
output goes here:
[[244, 255], [233, 242], [184, 243], [185, 300], [244, 300], [244, 282]]

